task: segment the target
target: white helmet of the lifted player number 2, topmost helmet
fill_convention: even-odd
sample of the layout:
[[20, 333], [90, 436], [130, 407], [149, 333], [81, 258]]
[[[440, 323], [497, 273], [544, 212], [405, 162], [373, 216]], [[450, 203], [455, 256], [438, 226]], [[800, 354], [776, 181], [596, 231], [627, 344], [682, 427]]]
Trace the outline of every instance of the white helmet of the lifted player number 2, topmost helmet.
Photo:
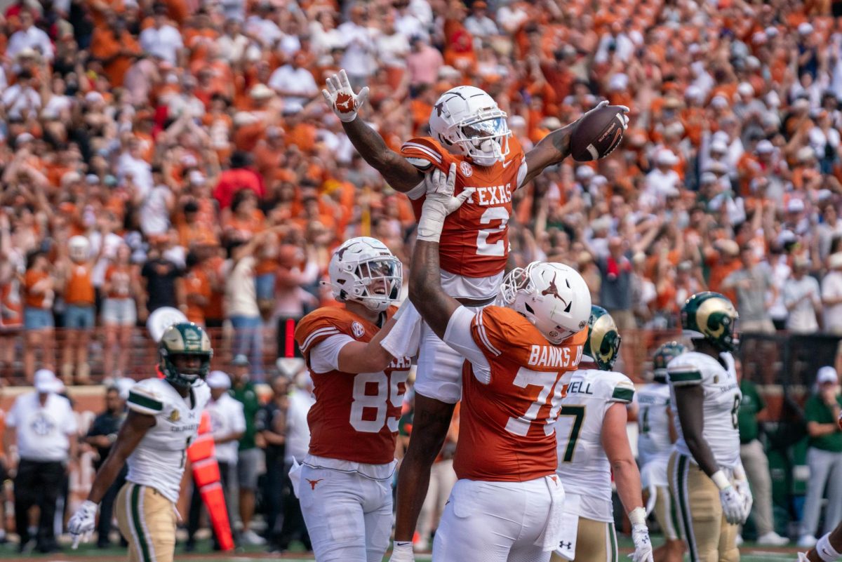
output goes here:
[[506, 112], [478, 87], [457, 86], [441, 94], [429, 114], [435, 140], [453, 154], [467, 156], [477, 166], [503, 162], [509, 154]]

